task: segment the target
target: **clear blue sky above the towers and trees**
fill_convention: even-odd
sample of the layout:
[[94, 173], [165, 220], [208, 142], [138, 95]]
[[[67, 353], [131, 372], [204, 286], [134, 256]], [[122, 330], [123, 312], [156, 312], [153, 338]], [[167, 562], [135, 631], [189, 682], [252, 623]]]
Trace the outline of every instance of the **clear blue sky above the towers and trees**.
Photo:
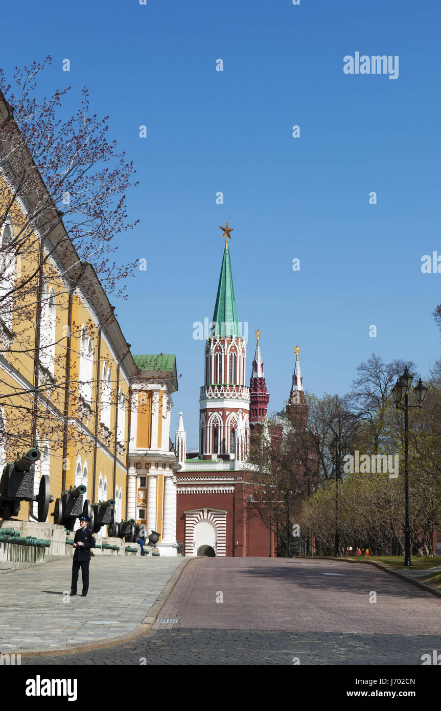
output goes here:
[[[141, 222], [119, 258], [144, 257], [148, 270], [116, 313], [134, 353], [176, 354], [173, 438], [183, 410], [197, 446], [192, 324], [212, 318], [225, 220], [248, 375], [260, 328], [269, 410], [288, 397], [295, 343], [317, 395], [346, 392], [373, 351], [428, 373], [441, 350], [441, 274], [420, 268], [441, 255], [440, 3], [22, 0], [1, 24], [6, 72], [52, 55], [42, 90], [72, 85], [73, 112], [87, 85], [136, 163], [129, 210]], [[356, 51], [398, 55], [398, 79], [345, 75]]]

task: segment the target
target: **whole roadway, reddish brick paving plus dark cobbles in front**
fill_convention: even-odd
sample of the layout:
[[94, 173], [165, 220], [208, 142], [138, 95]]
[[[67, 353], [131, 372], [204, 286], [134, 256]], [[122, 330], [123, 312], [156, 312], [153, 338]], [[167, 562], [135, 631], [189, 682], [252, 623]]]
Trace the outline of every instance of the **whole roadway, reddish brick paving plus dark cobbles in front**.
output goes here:
[[187, 565], [160, 613], [177, 624], [156, 622], [146, 637], [84, 653], [82, 663], [421, 665], [441, 651], [440, 613], [440, 598], [370, 565], [204, 558]]

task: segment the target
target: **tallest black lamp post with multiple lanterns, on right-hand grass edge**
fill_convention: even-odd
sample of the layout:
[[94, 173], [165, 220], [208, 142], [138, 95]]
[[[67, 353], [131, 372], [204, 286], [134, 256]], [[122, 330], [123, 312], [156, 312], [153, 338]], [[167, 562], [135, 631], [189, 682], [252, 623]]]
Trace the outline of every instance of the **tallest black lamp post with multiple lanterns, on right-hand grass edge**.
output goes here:
[[[410, 375], [408, 371], [408, 366], [404, 368], [404, 373], [396, 381], [391, 392], [393, 397], [393, 402], [396, 404], [396, 409], [404, 410], [404, 482], [405, 482], [405, 525], [404, 525], [404, 565], [410, 567], [412, 561], [410, 560], [410, 525], [409, 525], [409, 471], [408, 471], [408, 461], [409, 461], [409, 421], [408, 421], [408, 409], [409, 407], [421, 407], [421, 404], [425, 398], [425, 394], [428, 391], [427, 387], [423, 385], [420, 380], [418, 380], [418, 385], [413, 388], [416, 398], [418, 400], [418, 405], [409, 405], [408, 403], [408, 390], [412, 384], [413, 375]], [[403, 402], [404, 401], [404, 402]]]

